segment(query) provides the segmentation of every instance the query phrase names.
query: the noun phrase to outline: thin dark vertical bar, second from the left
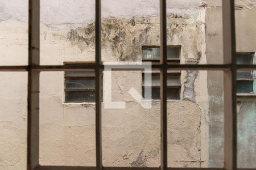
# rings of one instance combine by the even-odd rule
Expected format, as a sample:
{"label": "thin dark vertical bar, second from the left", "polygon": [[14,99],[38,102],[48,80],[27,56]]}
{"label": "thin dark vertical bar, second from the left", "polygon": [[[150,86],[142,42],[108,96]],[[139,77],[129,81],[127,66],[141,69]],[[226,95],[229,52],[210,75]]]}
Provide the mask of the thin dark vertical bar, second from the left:
{"label": "thin dark vertical bar, second from the left", "polygon": [[95,74],[96,74],[96,167],[102,169],[102,147],[101,147],[101,89],[102,89],[102,70],[101,65],[101,0],[96,0],[96,54],[95,54]]}

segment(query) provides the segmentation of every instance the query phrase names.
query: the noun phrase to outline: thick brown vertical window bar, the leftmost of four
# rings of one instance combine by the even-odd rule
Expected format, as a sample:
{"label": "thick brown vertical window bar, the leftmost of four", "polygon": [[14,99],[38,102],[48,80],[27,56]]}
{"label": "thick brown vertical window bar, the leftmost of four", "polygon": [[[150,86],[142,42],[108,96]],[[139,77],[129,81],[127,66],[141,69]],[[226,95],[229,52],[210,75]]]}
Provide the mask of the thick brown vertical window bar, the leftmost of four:
{"label": "thick brown vertical window bar, the leftmost of four", "polygon": [[27,169],[39,166],[39,71],[40,0],[28,1],[28,96],[27,96]]}

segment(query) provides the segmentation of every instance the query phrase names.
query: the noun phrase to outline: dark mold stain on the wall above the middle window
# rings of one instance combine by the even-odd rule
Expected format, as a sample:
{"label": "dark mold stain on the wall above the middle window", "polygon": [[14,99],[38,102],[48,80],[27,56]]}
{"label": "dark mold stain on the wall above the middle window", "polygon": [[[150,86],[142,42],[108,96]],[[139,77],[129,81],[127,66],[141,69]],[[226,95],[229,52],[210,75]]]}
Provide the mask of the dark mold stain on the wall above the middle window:
{"label": "dark mold stain on the wall above the middle window", "polygon": [[[202,35],[200,21],[187,15],[169,14],[167,17],[168,45],[183,46],[183,58],[200,60]],[[95,45],[94,22],[71,29],[67,41],[81,52]],[[160,45],[159,16],[104,18],[101,30],[102,58],[111,61],[141,61],[141,46]]]}

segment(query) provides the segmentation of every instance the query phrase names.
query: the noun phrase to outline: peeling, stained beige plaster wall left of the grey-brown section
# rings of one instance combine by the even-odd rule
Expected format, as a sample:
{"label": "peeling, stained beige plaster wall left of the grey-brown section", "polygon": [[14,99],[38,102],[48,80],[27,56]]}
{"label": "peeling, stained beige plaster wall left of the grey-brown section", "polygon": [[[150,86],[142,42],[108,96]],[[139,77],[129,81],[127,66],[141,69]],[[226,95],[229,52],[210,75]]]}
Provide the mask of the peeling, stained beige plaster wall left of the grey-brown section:
{"label": "peeling, stained beige plaster wall left of the grey-brown section", "polygon": [[[25,65],[27,8],[24,4],[27,2],[12,0],[0,3],[0,45],[3,47],[0,62],[4,65]],[[205,52],[205,3],[212,2],[167,3],[167,44],[182,46],[181,63],[216,62],[207,61]],[[15,8],[16,4],[21,5],[19,9]],[[58,0],[41,1],[41,5],[41,64],[94,61],[94,3],[89,0],[74,3]],[[158,11],[158,1],[134,1],[133,4],[102,1],[102,59],[141,61],[142,45],[160,44]],[[168,102],[168,151],[172,153],[168,164],[173,167],[208,166],[209,73],[190,73],[181,72],[181,100]],[[61,72],[41,73],[40,78],[40,164],[95,165],[94,104],[63,104],[64,74]],[[7,79],[17,82],[11,74],[7,75]],[[19,79],[24,81],[8,87],[21,90],[16,86],[26,84],[26,75],[19,76]],[[193,84],[193,89],[189,91],[191,97],[186,95],[186,90],[189,90],[186,83]],[[1,87],[6,88],[4,83]],[[113,100],[127,103],[126,109],[102,110],[104,165],[157,167],[160,164],[160,103],[154,101],[152,109],[142,109],[127,93],[131,87],[141,92],[141,72],[113,73]],[[13,98],[18,103],[23,101],[20,106],[24,107],[26,94],[20,96],[24,100]],[[2,108],[1,116],[6,117],[9,112]],[[12,107],[7,103],[5,108]],[[17,117],[26,115],[26,107],[23,110],[18,108],[13,113],[15,115],[6,118],[9,123],[1,122],[1,126],[8,125],[1,140],[4,145],[1,146],[15,150],[3,152],[0,164],[5,169],[25,169],[26,116]],[[14,130],[10,126],[15,127]],[[16,135],[7,142],[12,133]],[[14,163],[13,160],[19,161]]]}

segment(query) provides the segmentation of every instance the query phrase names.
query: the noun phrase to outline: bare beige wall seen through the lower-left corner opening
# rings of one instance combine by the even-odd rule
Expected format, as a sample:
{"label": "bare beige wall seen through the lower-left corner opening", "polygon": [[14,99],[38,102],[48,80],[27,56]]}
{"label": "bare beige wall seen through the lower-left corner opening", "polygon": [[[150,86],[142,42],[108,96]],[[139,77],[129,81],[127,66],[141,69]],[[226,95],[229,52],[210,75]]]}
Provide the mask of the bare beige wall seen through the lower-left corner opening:
{"label": "bare beige wall seen through the lower-left corner opening", "polygon": [[26,169],[27,74],[0,76],[0,169]]}

